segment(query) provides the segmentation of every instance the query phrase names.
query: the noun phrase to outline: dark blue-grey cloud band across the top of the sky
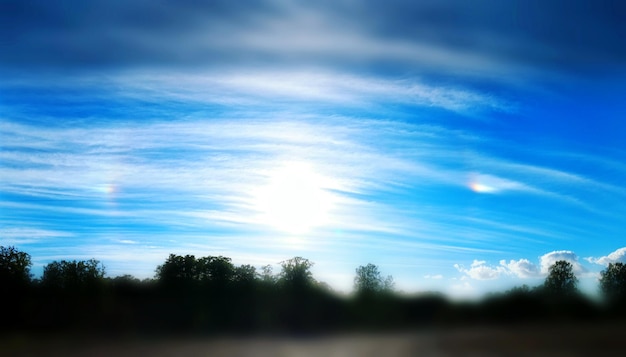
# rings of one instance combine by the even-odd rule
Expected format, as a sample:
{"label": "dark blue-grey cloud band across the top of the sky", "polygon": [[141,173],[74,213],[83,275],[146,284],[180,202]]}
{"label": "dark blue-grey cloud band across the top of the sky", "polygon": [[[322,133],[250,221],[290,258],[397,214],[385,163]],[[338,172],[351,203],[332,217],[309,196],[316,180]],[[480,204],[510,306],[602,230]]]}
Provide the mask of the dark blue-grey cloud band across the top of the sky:
{"label": "dark blue-grey cloud band across the top of the sky", "polygon": [[622,70],[608,1],[4,1],[5,68],[269,63],[498,74]]}

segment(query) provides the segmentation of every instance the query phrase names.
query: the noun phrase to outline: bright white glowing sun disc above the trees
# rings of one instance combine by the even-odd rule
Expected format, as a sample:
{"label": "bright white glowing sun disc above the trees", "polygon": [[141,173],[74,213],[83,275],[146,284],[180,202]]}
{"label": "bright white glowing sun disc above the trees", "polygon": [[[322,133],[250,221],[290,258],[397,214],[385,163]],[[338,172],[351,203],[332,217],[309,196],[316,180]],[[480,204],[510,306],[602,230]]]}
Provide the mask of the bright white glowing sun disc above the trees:
{"label": "bright white glowing sun disc above the trees", "polygon": [[256,195],[262,222],[287,233],[302,234],[328,222],[331,194],[326,180],[310,165],[292,163],[272,171]]}

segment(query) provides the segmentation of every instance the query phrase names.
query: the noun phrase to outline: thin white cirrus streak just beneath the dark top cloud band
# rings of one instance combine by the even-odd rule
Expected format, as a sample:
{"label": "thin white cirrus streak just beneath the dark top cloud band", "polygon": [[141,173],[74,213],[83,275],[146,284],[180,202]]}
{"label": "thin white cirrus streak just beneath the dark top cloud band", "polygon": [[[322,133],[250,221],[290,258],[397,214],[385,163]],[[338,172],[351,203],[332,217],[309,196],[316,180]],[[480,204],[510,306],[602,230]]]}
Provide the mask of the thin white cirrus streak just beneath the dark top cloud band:
{"label": "thin white cirrus streak just beneath the dark top cloud band", "polygon": [[[28,92],[42,81],[49,83],[53,95],[72,92],[64,101],[77,107],[96,105],[83,98],[98,97],[124,106],[125,100],[149,100],[163,108],[156,115],[165,115],[172,108],[196,107],[202,112],[207,105],[228,106],[235,117],[262,115],[262,109],[273,112],[310,112],[323,107],[352,108],[361,112],[385,110],[389,104],[439,108],[467,116],[480,112],[514,112],[515,104],[495,93],[479,91],[471,86],[437,83],[419,75],[380,76],[367,71],[339,71],[320,66],[256,66],[234,69],[183,68],[170,71],[113,71],[108,75],[76,74],[58,78],[55,75],[8,79],[12,91]],[[97,91],[94,89],[97,88]],[[80,90],[78,90],[80,89]],[[159,106],[146,108],[150,111]],[[129,111],[136,108],[128,107]],[[234,108],[234,110],[233,110]],[[100,108],[101,110],[104,108]],[[115,108],[108,108],[111,110]],[[336,110],[336,109],[335,109]],[[193,113],[193,112],[192,112]],[[127,115],[127,113],[120,113]],[[128,118],[132,119],[132,118]],[[257,118],[261,119],[261,118]]]}

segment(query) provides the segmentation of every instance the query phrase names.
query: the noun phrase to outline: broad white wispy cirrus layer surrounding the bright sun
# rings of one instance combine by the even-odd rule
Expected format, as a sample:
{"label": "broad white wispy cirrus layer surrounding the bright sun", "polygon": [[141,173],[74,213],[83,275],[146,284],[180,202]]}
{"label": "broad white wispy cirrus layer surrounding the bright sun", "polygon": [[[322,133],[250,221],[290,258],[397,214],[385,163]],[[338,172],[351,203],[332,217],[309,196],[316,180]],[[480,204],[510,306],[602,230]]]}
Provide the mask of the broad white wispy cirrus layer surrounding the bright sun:
{"label": "broad white wispy cirrus layer surrounding the bright sun", "polygon": [[[559,183],[590,182],[566,171],[505,160],[488,151],[474,156],[473,150],[459,156],[454,146],[448,146],[450,136],[476,148],[481,147],[482,138],[434,124],[345,115],[257,114],[261,117],[246,115],[232,120],[226,113],[226,118],[210,120],[131,122],[123,126],[95,122],[45,129],[4,121],[0,128],[7,140],[3,140],[0,152],[0,174],[5,179],[0,187],[13,195],[47,200],[5,200],[4,207],[17,208],[17,213],[5,220],[17,222],[23,218],[19,214],[31,212],[56,212],[104,219],[111,227],[94,229],[108,231],[123,231],[133,222],[151,230],[182,229],[177,233],[181,236],[226,227],[252,234],[252,238],[240,236],[227,243],[234,247],[257,239],[259,232],[268,229],[259,220],[253,202],[255,189],[268,182],[273,170],[296,161],[306,162],[323,177],[323,189],[334,197],[331,225],[343,233],[327,240],[327,247],[356,251],[369,247],[393,254],[419,249],[422,254],[430,251],[459,261],[472,251],[506,254],[518,244],[510,242],[521,245],[530,239],[545,244],[574,232],[569,231],[569,225],[556,225],[558,222],[553,222],[553,227],[543,223],[534,226],[538,218],[530,216],[525,223],[503,224],[498,218],[503,212],[488,206],[476,211],[484,212],[482,216],[454,217],[437,213],[455,209],[445,202],[437,203],[437,199],[430,198],[425,209],[414,198],[391,205],[377,194],[406,197],[417,190],[440,192],[445,197],[448,192],[458,192],[468,195],[469,200],[475,197],[468,183],[468,178],[473,178],[499,194],[493,199],[556,200],[569,205],[559,196],[562,189],[553,191],[546,176]],[[467,160],[472,163],[469,170]],[[606,188],[599,184],[596,189]],[[578,193],[573,190],[571,194],[576,197]],[[79,204],[68,207],[66,200]],[[17,216],[12,217],[14,214]],[[126,234],[132,233],[132,228],[128,229]],[[316,234],[322,231],[312,233],[311,239]],[[333,237],[331,232],[323,234]],[[370,234],[390,237],[395,248],[385,240],[363,238]],[[146,240],[140,236],[119,239],[139,244]],[[401,243],[408,240],[414,242]],[[494,242],[507,242],[507,247],[494,248]],[[163,243],[155,243],[159,244]],[[288,250],[284,254],[289,254]],[[530,276],[534,271],[529,264],[511,264],[490,266],[483,262],[457,269],[477,278]]]}

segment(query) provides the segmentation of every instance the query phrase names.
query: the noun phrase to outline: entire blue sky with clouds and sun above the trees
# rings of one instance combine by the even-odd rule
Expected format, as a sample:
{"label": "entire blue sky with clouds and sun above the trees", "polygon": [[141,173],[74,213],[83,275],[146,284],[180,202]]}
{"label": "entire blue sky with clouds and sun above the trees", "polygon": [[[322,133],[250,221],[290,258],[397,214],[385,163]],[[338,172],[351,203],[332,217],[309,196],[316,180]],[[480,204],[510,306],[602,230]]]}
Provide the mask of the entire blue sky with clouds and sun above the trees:
{"label": "entire blue sky with clouds and sun above the trees", "polygon": [[626,262],[617,1],[0,3],[0,245],[154,276],[294,256],[349,292]]}

